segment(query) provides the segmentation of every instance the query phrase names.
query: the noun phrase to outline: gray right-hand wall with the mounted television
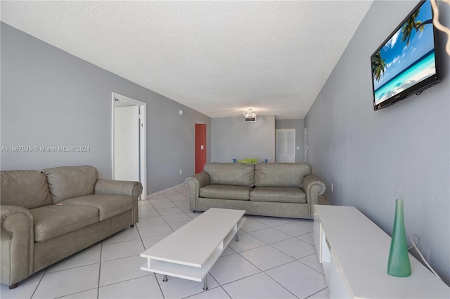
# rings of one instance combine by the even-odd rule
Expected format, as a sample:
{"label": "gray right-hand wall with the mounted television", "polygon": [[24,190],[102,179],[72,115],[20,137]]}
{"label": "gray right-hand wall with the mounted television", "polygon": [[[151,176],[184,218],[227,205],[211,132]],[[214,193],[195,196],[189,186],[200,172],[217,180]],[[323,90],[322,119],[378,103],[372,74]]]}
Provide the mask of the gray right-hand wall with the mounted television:
{"label": "gray right-hand wall with the mounted television", "polygon": [[[432,267],[449,284],[447,36],[439,35],[441,84],[378,112],[372,104],[371,54],[417,3],[373,2],[307,114],[308,161],[325,180],[330,204],[356,206],[388,234],[394,200],[402,197],[406,234],[420,235],[420,248],[430,248]],[[439,7],[441,22],[449,27],[449,6],[440,2]]]}

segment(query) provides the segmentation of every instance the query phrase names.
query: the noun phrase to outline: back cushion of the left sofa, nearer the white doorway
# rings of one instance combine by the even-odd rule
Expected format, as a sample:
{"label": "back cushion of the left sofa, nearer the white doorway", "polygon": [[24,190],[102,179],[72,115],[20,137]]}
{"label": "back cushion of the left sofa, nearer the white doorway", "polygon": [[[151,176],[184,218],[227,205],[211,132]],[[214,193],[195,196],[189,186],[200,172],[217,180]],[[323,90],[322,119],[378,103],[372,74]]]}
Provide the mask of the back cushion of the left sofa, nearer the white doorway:
{"label": "back cushion of the left sofa, nearer the white doorway", "polygon": [[98,178],[95,167],[63,166],[44,169],[42,172],[47,175],[53,204],[58,204],[64,199],[94,194],[94,185]]}

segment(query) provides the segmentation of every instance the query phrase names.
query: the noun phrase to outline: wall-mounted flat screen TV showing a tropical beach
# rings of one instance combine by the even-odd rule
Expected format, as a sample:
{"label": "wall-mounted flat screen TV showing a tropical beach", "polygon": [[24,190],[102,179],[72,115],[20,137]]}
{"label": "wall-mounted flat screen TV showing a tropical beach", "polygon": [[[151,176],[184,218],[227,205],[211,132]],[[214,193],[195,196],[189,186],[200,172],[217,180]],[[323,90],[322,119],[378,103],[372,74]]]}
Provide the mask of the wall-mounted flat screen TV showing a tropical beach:
{"label": "wall-mounted flat screen TV showing a tropical beach", "polygon": [[442,81],[432,15],[430,0],[420,1],[371,56],[375,111]]}

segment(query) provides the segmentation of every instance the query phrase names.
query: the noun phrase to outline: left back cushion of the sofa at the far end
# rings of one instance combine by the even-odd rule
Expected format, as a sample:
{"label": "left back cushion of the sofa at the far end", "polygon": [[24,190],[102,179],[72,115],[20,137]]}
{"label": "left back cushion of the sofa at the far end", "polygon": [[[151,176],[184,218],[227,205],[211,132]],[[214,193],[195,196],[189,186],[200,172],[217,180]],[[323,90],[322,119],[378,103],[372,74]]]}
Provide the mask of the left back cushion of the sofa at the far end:
{"label": "left back cushion of the sofa at the far end", "polygon": [[211,185],[253,187],[255,165],[243,163],[207,163],[203,171],[210,175]]}

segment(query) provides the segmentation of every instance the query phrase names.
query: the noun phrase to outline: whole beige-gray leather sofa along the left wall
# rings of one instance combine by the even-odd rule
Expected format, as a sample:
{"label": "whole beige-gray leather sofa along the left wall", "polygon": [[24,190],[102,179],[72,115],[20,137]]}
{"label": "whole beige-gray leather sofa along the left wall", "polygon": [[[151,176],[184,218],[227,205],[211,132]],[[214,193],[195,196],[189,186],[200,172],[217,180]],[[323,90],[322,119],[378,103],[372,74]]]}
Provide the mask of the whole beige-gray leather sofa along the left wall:
{"label": "whole beige-gray leather sofa along the left wall", "polygon": [[138,221],[140,182],[92,166],[1,171],[1,283],[9,288]]}

